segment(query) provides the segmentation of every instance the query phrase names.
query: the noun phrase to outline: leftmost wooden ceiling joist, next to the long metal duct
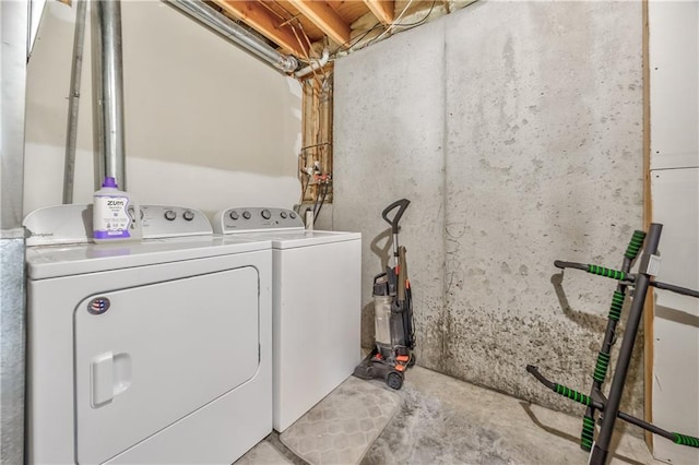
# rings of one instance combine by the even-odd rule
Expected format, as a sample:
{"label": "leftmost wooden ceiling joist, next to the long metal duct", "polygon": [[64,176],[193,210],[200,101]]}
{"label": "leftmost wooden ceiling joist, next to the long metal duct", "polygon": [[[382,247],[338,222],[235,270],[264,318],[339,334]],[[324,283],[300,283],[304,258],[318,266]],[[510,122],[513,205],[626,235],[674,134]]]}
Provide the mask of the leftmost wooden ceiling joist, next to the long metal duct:
{"label": "leftmost wooden ceiling joist, next to the long metal duct", "polygon": [[[282,25],[282,21],[272,14],[257,1],[249,0],[213,0],[223,11],[240,19],[250,27],[273,43],[284,51],[297,57],[308,56],[308,44],[296,38],[288,24]],[[300,35],[299,35],[300,37]]]}

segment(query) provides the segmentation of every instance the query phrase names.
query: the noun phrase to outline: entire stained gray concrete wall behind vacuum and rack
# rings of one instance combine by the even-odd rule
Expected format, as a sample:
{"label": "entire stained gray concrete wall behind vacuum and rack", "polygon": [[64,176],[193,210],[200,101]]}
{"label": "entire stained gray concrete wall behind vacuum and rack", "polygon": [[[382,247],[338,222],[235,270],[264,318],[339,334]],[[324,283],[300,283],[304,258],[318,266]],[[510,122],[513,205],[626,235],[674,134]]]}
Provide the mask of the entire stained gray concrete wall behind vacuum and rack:
{"label": "entire stained gray concrete wall behind vacuum and rack", "polygon": [[333,226],[368,306],[380,212],[413,201],[418,363],[580,410],[524,367],[590,388],[615,283],[553,262],[619,266],[642,226],[641,56],[640,2],[478,2],[336,62]]}

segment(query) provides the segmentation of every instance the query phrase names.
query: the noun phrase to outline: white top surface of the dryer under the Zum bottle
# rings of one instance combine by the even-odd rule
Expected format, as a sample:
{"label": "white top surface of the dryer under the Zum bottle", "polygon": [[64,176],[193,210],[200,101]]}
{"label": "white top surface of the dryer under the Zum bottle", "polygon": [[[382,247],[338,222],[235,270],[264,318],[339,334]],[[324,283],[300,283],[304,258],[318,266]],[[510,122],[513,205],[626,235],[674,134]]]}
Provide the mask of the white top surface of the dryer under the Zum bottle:
{"label": "white top surface of the dryer under the Zum bottle", "polygon": [[271,248],[269,239],[199,236],[143,242],[40,246],[26,249],[29,279],[196,260]]}

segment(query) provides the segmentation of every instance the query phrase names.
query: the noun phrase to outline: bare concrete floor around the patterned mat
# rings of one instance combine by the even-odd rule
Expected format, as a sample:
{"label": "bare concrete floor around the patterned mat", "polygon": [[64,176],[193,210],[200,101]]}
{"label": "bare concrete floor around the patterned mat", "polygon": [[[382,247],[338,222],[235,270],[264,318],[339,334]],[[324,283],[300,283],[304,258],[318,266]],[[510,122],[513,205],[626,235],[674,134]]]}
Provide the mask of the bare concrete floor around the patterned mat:
{"label": "bare concrete floor around the patterned mat", "polygon": [[[370,382],[386,388],[380,381]],[[408,371],[398,394],[403,405],[369,448],[362,465],[583,465],[588,461],[588,454],[579,448],[582,406],[581,416],[572,417],[420,367]],[[662,464],[652,458],[640,437],[619,432],[615,439],[611,464]],[[257,451],[254,461],[244,457],[241,462],[306,463],[281,443],[277,433],[260,445],[264,454]]]}

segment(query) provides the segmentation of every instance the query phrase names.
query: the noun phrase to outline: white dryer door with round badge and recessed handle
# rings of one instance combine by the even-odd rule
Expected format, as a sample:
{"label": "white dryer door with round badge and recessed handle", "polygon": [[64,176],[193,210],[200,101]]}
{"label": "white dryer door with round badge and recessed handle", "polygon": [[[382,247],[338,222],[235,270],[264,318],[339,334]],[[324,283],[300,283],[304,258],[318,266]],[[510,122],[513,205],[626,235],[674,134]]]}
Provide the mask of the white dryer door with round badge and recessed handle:
{"label": "white dryer door with round badge and recessed handle", "polygon": [[78,305],[79,463],[107,461],[254,375],[258,282],[246,266]]}

